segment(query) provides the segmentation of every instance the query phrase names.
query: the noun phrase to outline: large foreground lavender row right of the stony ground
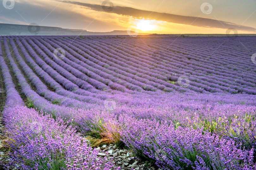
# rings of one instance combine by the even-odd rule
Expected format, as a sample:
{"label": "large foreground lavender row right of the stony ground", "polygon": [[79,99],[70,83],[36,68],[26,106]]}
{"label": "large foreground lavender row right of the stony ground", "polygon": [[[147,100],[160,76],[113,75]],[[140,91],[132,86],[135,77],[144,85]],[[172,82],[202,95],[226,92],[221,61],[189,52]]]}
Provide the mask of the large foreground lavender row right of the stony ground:
{"label": "large foreground lavender row right of the stony ground", "polygon": [[[251,169],[255,166],[255,149],[250,146],[255,138],[247,144],[244,142],[247,134],[243,133],[253,137],[255,133],[250,125],[255,122],[247,127],[232,122],[220,133],[217,130],[212,133],[197,123],[192,124],[195,127],[187,127],[179,122],[137,121],[130,117],[125,117],[124,122],[121,134],[125,144],[138,155],[154,159],[162,169]],[[217,122],[216,129],[224,127],[223,122],[226,120]]]}

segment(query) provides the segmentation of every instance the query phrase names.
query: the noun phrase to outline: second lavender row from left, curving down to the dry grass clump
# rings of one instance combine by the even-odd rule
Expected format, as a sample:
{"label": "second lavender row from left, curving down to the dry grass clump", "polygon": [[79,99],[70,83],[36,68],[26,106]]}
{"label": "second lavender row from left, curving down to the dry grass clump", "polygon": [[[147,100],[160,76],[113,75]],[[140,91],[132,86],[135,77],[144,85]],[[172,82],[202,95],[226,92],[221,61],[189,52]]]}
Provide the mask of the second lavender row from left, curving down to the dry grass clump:
{"label": "second lavender row from left, curving down to the dry grass clump", "polygon": [[54,118],[62,117],[63,119],[70,122],[71,124],[76,127],[82,133],[90,131],[92,128],[97,126],[97,120],[99,120],[100,112],[95,110],[86,111],[85,109],[91,109],[97,107],[98,109],[102,109],[102,105],[92,105],[88,104],[83,109],[76,109],[70,108],[65,106],[53,105],[48,100],[41,97],[35,91],[31,90],[30,86],[28,85],[25,77],[22,75],[21,71],[19,70],[18,66],[15,64],[14,59],[12,58],[8,46],[8,42],[4,41],[5,50],[7,53],[7,58],[10,61],[10,65],[15,73],[16,78],[21,86],[21,92],[26,95],[31,102],[33,102],[34,107],[38,108],[39,110],[43,110],[47,114],[51,114]]}

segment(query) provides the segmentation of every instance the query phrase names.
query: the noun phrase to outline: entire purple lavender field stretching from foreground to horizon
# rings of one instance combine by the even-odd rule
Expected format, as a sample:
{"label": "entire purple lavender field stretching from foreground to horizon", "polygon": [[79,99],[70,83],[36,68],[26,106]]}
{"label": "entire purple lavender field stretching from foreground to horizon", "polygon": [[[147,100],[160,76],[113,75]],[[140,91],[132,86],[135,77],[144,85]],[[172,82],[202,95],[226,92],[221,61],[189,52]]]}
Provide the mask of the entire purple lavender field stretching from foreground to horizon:
{"label": "entire purple lavender field stretching from foreground to horizon", "polygon": [[256,169],[255,36],[0,40],[4,169]]}

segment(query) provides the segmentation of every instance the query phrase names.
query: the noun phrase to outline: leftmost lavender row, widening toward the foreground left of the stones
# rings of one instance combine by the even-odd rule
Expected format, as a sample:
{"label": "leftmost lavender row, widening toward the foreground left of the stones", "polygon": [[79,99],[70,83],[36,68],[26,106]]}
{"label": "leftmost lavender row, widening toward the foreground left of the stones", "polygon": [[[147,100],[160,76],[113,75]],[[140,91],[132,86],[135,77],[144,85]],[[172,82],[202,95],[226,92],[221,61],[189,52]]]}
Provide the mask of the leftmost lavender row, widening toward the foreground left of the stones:
{"label": "leftmost lavender row, widening toward the foreground left of the stones", "polygon": [[107,170],[113,167],[113,162],[99,158],[98,151],[88,147],[75,129],[68,127],[62,119],[55,121],[49,115],[42,116],[42,112],[39,115],[36,110],[24,107],[2,55],[0,66],[6,88],[3,112],[8,137],[6,142],[12,149],[5,168],[9,169],[10,165],[19,169],[51,169],[57,166]]}

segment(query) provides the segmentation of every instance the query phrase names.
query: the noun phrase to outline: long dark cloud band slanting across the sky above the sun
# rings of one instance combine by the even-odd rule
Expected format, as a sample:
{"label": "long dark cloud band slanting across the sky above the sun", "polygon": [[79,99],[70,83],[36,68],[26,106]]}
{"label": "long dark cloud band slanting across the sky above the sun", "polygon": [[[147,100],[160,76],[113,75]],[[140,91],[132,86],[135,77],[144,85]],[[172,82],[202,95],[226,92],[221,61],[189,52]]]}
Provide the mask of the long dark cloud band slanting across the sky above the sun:
{"label": "long dark cloud band slanting across the sky above the sun", "polygon": [[[87,7],[89,9],[99,11],[99,12],[106,12],[101,7],[101,5],[97,5],[97,4],[71,2],[71,1],[63,1],[63,2],[80,5],[80,6]],[[146,10],[134,9],[134,8],[123,7],[123,6],[114,6],[111,11],[108,11],[108,13],[133,16],[136,18],[145,18],[145,19],[149,18],[150,20],[162,20],[170,23],[193,25],[193,26],[199,26],[199,27],[221,28],[221,29],[234,28],[236,30],[241,30],[241,31],[256,32],[256,29],[253,27],[238,25],[238,24],[226,22],[226,21],[220,21],[220,20],[215,20],[210,18],[194,17],[194,16],[183,16],[183,15],[159,13],[154,11],[146,11]]]}

